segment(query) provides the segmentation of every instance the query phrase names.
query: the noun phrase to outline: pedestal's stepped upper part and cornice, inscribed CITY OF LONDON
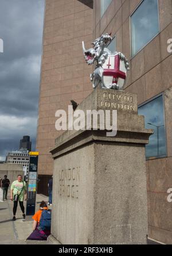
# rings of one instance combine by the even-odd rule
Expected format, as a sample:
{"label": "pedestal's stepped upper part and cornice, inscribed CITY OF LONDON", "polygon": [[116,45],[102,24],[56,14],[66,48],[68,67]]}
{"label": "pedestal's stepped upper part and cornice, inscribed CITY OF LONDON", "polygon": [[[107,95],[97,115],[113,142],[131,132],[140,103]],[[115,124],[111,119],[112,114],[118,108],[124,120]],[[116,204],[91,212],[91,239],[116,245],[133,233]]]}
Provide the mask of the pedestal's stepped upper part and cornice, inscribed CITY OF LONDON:
{"label": "pedestal's stepped upper part and cornice, inscribed CITY OF LONDON", "polygon": [[[107,97],[107,99],[105,98],[104,100],[103,97]],[[126,101],[126,99],[130,99],[132,102],[130,103]],[[101,102],[103,102],[103,104],[101,104]],[[107,106],[105,102],[109,102],[110,107],[105,108],[105,106]],[[121,107],[125,105],[129,106],[129,109],[128,107]],[[84,113],[86,113],[87,110],[117,110],[117,135],[115,137],[107,137],[105,136],[106,131],[94,131],[93,129],[86,131],[85,121],[85,131],[65,131],[61,136],[57,137],[56,147],[51,151],[52,154],[55,154],[54,157],[59,156],[81,146],[83,143],[93,141],[95,137],[96,140],[107,140],[111,142],[148,143],[148,137],[153,130],[144,129],[144,117],[138,116],[137,108],[136,94],[107,89],[94,90],[81,102],[76,110],[83,110]],[[98,119],[98,128],[99,127],[100,120]]]}

